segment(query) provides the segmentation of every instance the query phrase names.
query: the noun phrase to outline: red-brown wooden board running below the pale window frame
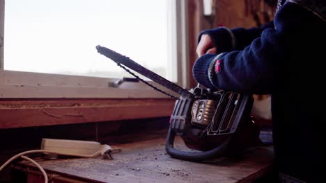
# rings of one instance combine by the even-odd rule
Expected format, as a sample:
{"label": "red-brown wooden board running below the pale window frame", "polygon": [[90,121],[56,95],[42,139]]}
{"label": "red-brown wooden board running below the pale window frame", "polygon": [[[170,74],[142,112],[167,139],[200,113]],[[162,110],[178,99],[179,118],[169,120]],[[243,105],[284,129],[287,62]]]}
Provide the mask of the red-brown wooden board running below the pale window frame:
{"label": "red-brown wooden board running below the pale window frame", "polygon": [[174,103],[171,99],[0,101],[0,129],[170,116]]}

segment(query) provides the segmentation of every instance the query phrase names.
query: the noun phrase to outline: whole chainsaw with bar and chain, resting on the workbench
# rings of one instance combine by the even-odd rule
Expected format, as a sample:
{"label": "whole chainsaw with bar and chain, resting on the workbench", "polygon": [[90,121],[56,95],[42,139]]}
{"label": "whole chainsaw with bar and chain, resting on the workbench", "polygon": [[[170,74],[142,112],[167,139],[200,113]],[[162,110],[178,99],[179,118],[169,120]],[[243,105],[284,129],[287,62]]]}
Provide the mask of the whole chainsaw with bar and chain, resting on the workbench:
{"label": "whole chainsaw with bar and chain, resting on the workbench", "polygon": [[[251,116],[251,107],[254,103],[252,95],[210,89],[201,85],[184,89],[125,55],[104,46],[96,46],[96,49],[137,80],[176,99],[165,144],[166,153],[171,157],[190,162],[203,162],[241,153],[242,150],[257,143],[260,129]],[[164,92],[127,68],[180,96]],[[189,150],[180,150],[173,146],[176,136],[183,139]]]}

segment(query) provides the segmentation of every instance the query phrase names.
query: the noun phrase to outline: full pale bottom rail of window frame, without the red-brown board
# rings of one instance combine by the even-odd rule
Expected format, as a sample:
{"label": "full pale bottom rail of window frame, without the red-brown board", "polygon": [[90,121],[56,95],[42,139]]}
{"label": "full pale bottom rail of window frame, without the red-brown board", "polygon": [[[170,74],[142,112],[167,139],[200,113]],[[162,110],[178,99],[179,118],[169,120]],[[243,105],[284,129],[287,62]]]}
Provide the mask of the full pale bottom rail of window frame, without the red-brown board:
{"label": "full pale bottom rail of window frame, without the red-brown board", "polygon": [[[169,98],[143,82],[124,82],[118,87],[109,87],[109,83],[116,80],[0,70],[0,98]],[[149,82],[164,92],[177,95]]]}

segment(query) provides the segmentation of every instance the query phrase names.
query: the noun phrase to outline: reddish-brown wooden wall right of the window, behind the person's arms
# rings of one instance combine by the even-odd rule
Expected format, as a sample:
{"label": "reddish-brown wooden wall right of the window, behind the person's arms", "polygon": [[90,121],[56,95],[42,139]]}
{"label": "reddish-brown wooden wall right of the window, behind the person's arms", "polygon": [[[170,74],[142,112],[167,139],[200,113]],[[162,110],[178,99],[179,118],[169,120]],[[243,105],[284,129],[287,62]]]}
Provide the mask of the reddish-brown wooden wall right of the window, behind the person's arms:
{"label": "reddish-brown wooden wall right of the window, behind the person's arms", "polygon": [[213,0],[212,16],[203,15],[203,3],[189,0],[189,71],[190,87],[196,86],[192,77],[192,65],[196,55],[197,36],[201,30],[226,26],[228,28],[251,28],[272,20],[277,1],[274,0]]}

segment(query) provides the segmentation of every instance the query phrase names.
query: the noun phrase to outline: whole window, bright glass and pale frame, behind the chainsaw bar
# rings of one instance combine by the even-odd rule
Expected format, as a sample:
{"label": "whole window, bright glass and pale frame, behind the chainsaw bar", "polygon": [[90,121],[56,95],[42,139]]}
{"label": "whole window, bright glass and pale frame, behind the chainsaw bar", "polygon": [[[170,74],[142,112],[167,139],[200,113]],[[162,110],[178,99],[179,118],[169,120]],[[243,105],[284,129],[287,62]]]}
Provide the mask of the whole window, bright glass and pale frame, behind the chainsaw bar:
{"label": "whole window, bright glass and pale frame, behind the chainsaw bar", "polygon": [[109,87],[132,76],[97,53],[98,44],[187,87],[185,1],[3,2],[1,97],[165,97],[142,83]]}

